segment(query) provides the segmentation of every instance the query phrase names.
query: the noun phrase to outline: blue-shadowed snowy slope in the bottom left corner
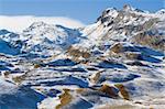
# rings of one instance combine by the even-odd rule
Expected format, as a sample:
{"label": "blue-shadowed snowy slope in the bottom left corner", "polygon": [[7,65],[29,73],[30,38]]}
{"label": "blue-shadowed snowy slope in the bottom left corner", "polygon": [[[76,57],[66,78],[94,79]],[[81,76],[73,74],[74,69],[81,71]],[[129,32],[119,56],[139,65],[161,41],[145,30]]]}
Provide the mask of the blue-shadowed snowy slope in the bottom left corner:
{"label": "blue-shadowed snowy slope in the bottom left corner", "polygon": [[18,87],[0,78],[0,108],[2,109],[35,109],[37,102],[45,97],[29,87]]}

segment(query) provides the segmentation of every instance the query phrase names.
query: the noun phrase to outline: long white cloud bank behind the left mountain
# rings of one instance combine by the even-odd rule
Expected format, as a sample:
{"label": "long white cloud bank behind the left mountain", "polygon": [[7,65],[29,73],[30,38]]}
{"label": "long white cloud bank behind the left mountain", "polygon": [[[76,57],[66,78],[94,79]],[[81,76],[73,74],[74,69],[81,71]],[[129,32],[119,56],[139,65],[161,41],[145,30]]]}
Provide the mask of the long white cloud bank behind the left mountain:
{"label": "long white cloud bank behind the left mountain", "polygon": [[21,32],[22,30],[30,26],[33,22],[38,21],[43,21],[48,24],[61,24],[67,28],[80,28],[85,25],[80,21],[64,17],[0,15],[0,29]]}

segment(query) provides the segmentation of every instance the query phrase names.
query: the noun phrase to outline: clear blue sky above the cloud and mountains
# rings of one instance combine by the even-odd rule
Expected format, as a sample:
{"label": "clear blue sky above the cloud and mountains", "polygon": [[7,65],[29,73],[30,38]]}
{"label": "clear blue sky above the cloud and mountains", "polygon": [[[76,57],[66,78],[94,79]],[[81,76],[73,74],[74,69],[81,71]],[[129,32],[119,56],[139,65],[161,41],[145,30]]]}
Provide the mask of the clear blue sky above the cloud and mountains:
{"label": "clear blue sky above the cloud and mountains", "polygon": [[165,0],[0,0],[0,15],[67,17],[86,24],[92,23],[109,7],[157,11]]}

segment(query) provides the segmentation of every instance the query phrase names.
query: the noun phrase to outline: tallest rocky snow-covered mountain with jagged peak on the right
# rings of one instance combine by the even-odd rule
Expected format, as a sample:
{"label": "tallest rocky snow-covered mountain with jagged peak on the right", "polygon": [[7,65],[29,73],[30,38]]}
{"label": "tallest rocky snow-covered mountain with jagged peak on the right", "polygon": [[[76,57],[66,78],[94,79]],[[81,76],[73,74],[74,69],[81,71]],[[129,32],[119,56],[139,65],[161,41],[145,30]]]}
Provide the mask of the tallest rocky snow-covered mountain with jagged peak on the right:
{"label": "tallest rocky snow-covered mountain with jagged peak on the right", "polygon": [[[97,22],[82,29],[89,43],[105,44],[130,42],[164,51],[165,14],[164,10],[148,13],[124,6],[122,10],[109,8],[102,12]],[[150,40],[150,41],[148,41]]]}

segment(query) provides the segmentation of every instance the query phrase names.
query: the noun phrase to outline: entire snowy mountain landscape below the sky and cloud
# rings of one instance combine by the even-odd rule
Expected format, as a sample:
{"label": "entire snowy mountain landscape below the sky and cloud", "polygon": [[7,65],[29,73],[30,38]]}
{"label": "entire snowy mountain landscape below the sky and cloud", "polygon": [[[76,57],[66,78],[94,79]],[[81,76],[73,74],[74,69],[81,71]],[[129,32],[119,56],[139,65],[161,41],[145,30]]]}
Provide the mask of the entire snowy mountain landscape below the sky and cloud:
{"label": "entire snowy mountain landscape below the sky and cloud", "polygon": [[164,51],[164,9],[108,8],[81,29],[1,30],[0,108],[161,109]]}

